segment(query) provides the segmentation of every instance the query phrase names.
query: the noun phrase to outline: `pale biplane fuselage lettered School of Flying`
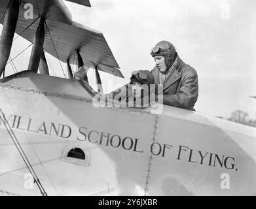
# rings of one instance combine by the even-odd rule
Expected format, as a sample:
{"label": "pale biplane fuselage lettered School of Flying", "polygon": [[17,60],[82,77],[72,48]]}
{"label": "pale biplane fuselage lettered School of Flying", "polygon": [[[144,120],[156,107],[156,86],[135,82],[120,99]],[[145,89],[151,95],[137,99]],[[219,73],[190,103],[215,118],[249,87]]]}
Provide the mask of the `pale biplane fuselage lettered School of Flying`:
{"label": "pale biplane fuselage lettered School of Flying", "polygon": [[[60,1],[41,2],[55,3],[50,12],[64,11]],[[77,42],[61,46],[45,35],[46,52],[68,64],[77,54],[97,71],[122,76],[101,33],[59,18],[46,19],[53,37],[63,24],[87,36],[77,33]],[[41,65],[43,50],[33,47],[40,56],[29,64]],[[157,114],[153,107],[96,107],[87,82],[36,72],[0,80],[0,195],[256,195],[255,128],[166,105]]]}

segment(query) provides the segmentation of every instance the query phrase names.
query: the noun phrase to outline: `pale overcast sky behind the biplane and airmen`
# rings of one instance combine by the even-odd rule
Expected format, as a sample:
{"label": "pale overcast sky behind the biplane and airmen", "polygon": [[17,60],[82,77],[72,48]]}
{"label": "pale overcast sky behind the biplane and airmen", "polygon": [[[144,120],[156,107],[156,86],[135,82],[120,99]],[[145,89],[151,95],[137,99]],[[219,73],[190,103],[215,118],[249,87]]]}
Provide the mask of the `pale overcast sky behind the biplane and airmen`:
{"label": "pale overcast sky behind the biplane and airmen", "polygon": [[[92,8],[65,4],[75,22],[103,33],[120,65],[125,79],[101,73],[103,84],[120,86],[129,81],[130,72],[153,69],[150,49],[168,40],[198,72],[197,111],[227,118],[241,109],[256,118],[256,99],[249,97],[256,96],[255,0],[90,2]],[[16,46],[24,48],[27,42]],[[12,50],[12,56],[17,52]]]}

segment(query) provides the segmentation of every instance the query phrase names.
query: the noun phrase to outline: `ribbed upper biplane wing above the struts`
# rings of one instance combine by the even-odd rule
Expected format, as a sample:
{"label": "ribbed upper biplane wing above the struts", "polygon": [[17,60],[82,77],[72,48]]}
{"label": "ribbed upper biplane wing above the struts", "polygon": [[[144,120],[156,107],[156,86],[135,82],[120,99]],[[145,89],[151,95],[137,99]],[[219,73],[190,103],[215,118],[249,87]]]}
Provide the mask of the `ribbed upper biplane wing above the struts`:
{"label": "ribbed upper biplane wing above the struts", "polygon": [[[8,0],[1,0],[0,15],[8,4]],[[82,5],[90,4],[89,1],[76,0],[74,3]],[[38,16],[45,16],[48,29],[45,29],[44,49],[54,57],[59,57],[62,61],[75,64],[75,50],[80,49],[80,54],[84,62],[93,61],[98,65],[99,70],[122,77],[119,65],[113,56],[107,41],[102,33],[89,27],[84,27],[71,20],[71,14],[60,0],[27,0],[26,3],[33,5],[34,19],[24,18],[25,3],[22,1],[16,33],[21,34],[24,39],[33,42],[33,37],[37,30],[39,20],[29,26]],[[24,31],[26,29],[26,31]],[[55,49],[56,51],[55,51]],[[56,54],[57,52],[57,54]]]}

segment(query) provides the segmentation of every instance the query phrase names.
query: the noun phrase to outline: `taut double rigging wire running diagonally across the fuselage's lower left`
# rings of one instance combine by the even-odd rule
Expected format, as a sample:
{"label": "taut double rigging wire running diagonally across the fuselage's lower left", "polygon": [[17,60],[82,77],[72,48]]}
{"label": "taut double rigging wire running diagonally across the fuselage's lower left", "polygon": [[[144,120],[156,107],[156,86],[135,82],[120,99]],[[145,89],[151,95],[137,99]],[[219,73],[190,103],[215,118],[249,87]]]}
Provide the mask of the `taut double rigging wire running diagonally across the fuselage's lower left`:
{"label": "taut double rigging wire running diagonally across the fuselage's lower left", "polygon": [[39,190],[41,191],[41,194],[43,196],[47,196],[47,193],[46,193],[43,185],[41,184],[37,174],[35,173],[35,170],[33,169],[32,165],[30,164],[29,159],[27,159],[26,153],[22,149],[22,146],[20,145],[20,142],[18,142],[18,139],[16,138],[16,135],[12,131],[12,128],[10,127],[7,119],[5,118],[5,114],[3,113],[3,111],[1,109],[0,109],[0,113],[1,113],[1,116],[3,116],[3,118],[0,117],[0,120],[3,121],[3,124],[5,125],[5,128],[7,129],[7,132],[9,133],[10,138],[12,139],[12,142],[14,142],[14,145],[16,146],[18,152],[20,153],[24,163],[26,164],[27,169],[29,170],[30,174],[33,176],[35,184],[37,184],[37,187],[39,187]]}

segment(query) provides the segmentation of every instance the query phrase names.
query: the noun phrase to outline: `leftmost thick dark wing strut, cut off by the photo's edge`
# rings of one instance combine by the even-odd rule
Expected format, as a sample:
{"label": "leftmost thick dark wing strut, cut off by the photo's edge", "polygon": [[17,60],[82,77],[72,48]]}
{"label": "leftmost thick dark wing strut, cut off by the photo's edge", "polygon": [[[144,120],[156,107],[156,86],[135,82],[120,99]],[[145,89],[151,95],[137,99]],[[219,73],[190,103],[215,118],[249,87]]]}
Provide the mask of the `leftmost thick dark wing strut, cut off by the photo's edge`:
{"label": "leftmost thick dark wing strut, cut off by the photo's edge", "polygon": [[0,76],[3,71],[5,71],[5,66],[10,56],[12,40],[18,21],[19,7],[19,0],[10,0],[6,9],[5,22],[3,24],[3,31],[0,41]]}

